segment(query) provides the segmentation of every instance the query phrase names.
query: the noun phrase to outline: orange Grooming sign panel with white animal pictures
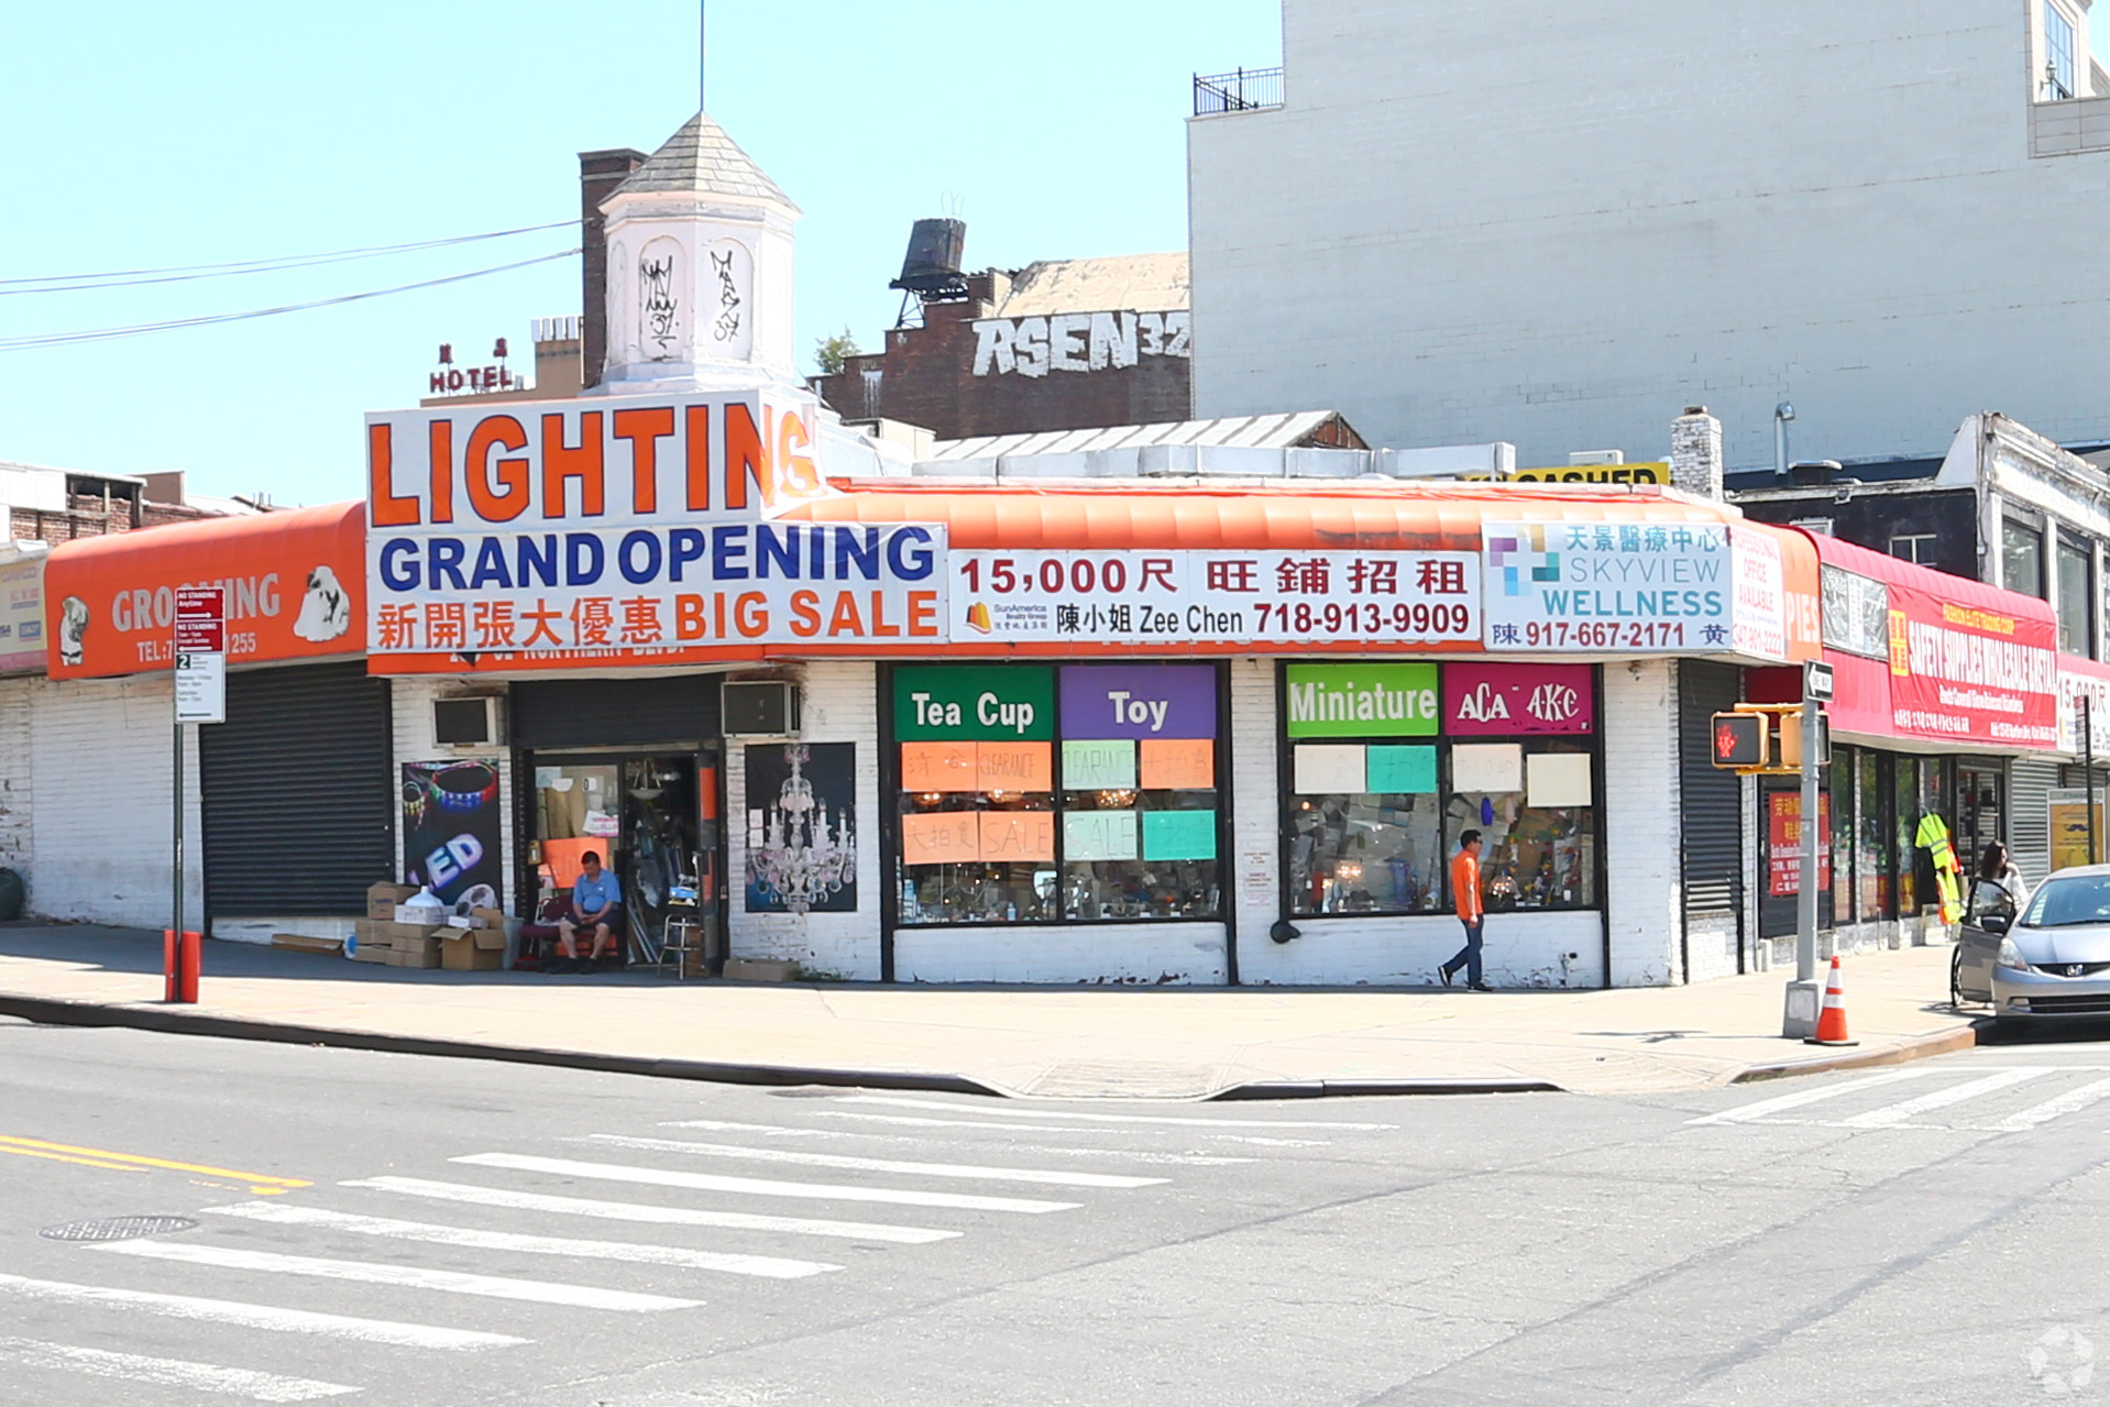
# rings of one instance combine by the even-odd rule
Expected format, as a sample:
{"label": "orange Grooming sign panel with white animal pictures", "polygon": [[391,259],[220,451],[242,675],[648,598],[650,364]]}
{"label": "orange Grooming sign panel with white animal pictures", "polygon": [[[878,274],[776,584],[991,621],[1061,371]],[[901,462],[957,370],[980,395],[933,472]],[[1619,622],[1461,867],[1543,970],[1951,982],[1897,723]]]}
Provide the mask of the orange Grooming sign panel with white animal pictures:
{"label": "orange Grooming sign panel with white animal pictures", "polygon": [[365,504],[205,519],[55,546],[44,572],[51,677],[171,669],[181,586],[226,591],[230,664],[365,654]]}

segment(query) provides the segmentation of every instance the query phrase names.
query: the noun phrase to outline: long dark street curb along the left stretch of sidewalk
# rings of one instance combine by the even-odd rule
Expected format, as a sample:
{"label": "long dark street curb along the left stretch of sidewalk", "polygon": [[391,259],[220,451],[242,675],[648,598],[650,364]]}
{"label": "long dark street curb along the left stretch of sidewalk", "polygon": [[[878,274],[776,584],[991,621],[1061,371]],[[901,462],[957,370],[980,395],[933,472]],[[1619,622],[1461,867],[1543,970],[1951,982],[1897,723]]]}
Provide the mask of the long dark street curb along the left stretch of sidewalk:
{"label": "long dark street curb along the left stretch of sidewalk", "polygon": [[833,1084],[844,1088],[903,1088],[943,1095],[1004,1093],[966,1076],[914,1074],[899,1069],[819,1069],[808,1065],[743,1065],[730,1061],[665,1061],[644,1055],[593,1055],[591,1051],[546,1051],[536,1046],[496,1046],[475,1040],[433,1040],[424,1036],[388,1036],[380,1032],[340,1032],[327,1025],[289,1025],[279,1021],[243,1021],[238,1017],[207,1017],[190,1010],[152,1006],[103,1006],[59,998],[0,994],[0,1017],[21,1017],[38,1025],[118,1025],[171,1036],[219,1036],[224,1040],[270,1040],[295,1046],[333,1046],[340,1051],[384,1051],[390,1055],[445,1055],[475,1061],[509,1061],[515,1065],[557,1065],[603,1074],[654,1076],[660,1080],[707,1080],[713,1084]]}

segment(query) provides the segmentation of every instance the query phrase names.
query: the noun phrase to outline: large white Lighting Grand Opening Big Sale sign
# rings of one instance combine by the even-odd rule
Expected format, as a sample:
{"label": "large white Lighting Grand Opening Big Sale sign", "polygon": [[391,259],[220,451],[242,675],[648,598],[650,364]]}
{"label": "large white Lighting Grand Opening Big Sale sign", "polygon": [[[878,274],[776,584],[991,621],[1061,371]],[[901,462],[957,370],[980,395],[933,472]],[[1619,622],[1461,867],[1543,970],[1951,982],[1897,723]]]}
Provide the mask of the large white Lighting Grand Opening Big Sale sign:
{"label": "large white Lighting Grand Opening Big Sale sign", "polygon": [[732,392],[369,416],[371,669],[941,641],[943,527],[776,519],[827,494],[814,409]]}

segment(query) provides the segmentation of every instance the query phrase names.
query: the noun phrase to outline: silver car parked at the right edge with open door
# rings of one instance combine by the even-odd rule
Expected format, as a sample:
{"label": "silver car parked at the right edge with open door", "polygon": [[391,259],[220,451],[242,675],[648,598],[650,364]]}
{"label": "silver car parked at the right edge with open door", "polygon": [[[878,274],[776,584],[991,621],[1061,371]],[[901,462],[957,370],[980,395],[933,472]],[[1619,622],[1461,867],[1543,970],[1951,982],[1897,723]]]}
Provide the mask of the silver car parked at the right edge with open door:
{"label": "silver car parked at the right edge with open door", "polygon": [[2110,865],[2061,869],[2021,901],[1977,882],[1952,968],[1954,994],[2000,1023],[2110,1017]]}

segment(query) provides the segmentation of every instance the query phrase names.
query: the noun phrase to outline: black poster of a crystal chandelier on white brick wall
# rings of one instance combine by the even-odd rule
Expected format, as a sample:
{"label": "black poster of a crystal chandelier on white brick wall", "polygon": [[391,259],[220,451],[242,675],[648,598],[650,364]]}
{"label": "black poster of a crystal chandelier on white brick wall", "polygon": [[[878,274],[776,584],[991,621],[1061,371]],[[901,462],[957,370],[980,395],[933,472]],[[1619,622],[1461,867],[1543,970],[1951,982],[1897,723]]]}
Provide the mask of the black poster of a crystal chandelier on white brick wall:
{"label": "black poster of a crystal chandelier on white brick wall", "polygon": [[857,911],[857,745],[747,749],[747,911]]}

